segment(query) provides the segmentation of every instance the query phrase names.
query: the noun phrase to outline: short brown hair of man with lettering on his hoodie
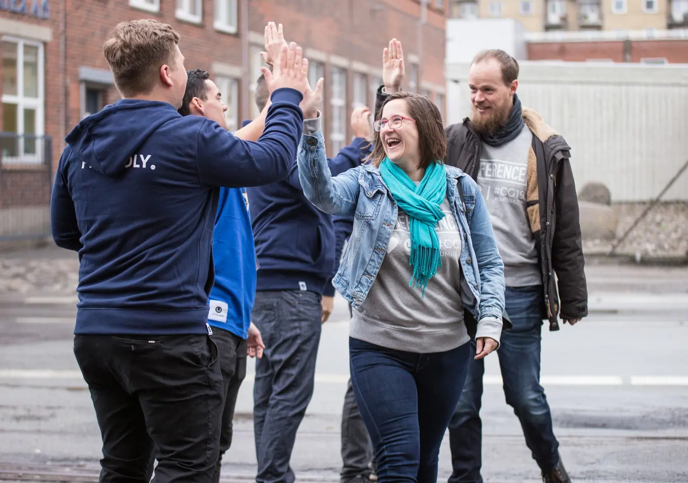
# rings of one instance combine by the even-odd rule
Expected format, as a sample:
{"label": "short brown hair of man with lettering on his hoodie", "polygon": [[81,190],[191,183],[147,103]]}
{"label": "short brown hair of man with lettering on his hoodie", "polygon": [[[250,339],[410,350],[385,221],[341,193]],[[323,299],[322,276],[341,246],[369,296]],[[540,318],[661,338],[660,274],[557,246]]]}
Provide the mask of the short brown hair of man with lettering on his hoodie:
{"label": "short brown hair of man with lettering on his hoodie", "polygon": [[179,34],[166,23],[153,19],[119,23],[103,53],[122,96],[151,92],[160,66],[172,63],[178,43]]}

